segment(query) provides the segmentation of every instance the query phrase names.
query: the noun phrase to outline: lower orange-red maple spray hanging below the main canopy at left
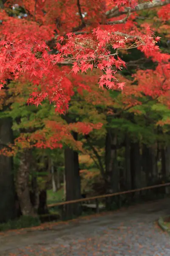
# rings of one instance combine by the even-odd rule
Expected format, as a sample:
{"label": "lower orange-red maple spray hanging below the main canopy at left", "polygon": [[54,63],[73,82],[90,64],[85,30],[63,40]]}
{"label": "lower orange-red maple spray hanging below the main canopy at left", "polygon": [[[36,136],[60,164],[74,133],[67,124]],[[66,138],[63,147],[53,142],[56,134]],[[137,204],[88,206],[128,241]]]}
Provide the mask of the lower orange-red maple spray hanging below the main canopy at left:
{"label": "lower orange-red maple spray hanging below the main canopy at left", "polygon": [[[30,123],[29,123],[30,125]],[[72,131],[78,134],[89,134],[94,129],[99,130],[102,123],[77,122],[64,124],[56,121],[45,121],[45,127],[33,133],[21,133],[14,140],[14,144],[8,144],[7,147],[0,150],[0,154],[13,156],[24,148],[62,148],[63,145],[69,145],[76,150],[83,151],[82,142],[74,140]]]}

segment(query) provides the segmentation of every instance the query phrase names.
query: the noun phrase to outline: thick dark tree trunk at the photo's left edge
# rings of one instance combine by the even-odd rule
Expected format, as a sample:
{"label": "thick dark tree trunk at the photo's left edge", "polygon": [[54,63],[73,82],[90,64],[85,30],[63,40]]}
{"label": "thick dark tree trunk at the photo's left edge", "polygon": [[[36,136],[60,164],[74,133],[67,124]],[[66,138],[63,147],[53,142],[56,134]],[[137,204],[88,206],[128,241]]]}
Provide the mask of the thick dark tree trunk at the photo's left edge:
{"label": "thick dark tree trunk at the photo's left edge", "polygon": [[[12,120],[0,119],[0,149],[13,142]],[[0,222],[16,217],[12,157],[0,155]]]}

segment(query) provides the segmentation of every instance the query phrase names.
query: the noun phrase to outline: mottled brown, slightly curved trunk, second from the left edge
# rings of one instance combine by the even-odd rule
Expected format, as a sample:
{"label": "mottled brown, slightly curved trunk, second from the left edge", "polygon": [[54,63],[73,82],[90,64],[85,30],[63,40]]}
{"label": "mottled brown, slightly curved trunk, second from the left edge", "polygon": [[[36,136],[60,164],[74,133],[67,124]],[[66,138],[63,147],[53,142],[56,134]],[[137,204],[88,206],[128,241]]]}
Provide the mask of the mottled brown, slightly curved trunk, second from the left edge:
{"label": "mottled brown, slightly curved trunk, second from the left edge", "polygon": [[17,195],[20,202],[20,208],[23,215],[36,216],[34,207],[31,204],[29,190],[30,174],[30,151],[26,149],[21,153],[20,166],[17,171],[16,187]]}

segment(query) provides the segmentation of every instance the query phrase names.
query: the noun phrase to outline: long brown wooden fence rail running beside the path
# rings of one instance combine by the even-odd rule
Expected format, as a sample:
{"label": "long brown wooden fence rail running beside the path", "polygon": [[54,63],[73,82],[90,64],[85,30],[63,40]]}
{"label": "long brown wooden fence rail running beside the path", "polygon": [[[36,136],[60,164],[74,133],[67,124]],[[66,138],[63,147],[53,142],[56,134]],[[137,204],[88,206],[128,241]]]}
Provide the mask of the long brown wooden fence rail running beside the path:
{"label": "long brown wooden fence rail running beside the path", "polygon": [[48,204],[48,208],[56,207],[59,205],[65,205],[65,204],[74,204],[74,203],[79,203],[79,202],[84,202],[84,201],[91,201],[91,200],[96,200],[96,204],[98,204],[98,199],[100,199],[100,198],[108,198],[108,197],[112,197],[112,196],[116,196],[116,195],[125,195],[125,194],[129,194],[129,193],[133,193],[133,192],[140,192],[143,190],[154,189],[154,188],[159,188],[159,187],[164,187],[164,186],[170,186],[170,182],[159,184],[159,185],[154,185],[154,186],[147,186],[147,187],[144,187],[141,189],[132,189],[132,190],[117,192],[117,193],[113,193],[113,194],[98,195],[98,196],[93,196],[93,197],[89,197],[89,198],[81,198],[81,199],[77,199],[77,200],[64,201],[64,202],[60,202],[60,203],[56,203],[56,204]]}

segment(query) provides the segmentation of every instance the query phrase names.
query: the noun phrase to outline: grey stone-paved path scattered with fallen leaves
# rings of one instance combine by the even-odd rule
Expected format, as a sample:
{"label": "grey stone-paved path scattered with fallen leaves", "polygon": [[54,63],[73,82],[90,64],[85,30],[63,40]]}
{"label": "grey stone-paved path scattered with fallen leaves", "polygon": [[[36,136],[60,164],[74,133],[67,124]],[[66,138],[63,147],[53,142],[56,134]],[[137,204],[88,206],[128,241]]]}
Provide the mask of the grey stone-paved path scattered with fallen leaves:
{"label": "grey stone-paved path scattered with fallen leaves", "polygon": [[156,224],[167,214],[170,199],[41,230],[0,233],[0,256],[170,256],[170,236]]}

